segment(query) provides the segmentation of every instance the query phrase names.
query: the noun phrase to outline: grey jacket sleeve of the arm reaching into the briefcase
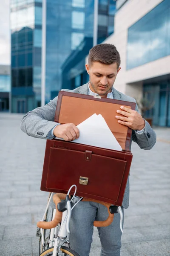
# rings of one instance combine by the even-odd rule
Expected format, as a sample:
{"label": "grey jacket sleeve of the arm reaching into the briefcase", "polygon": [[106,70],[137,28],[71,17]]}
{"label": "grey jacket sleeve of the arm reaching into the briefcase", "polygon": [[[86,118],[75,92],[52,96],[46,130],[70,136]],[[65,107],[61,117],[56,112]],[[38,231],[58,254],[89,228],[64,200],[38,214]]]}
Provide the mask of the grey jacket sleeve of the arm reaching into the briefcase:
{"label": "grey jacket sleeve of the arm reaching into the briefcase", "polygon": [[58,96],[43,107],[35,108],[23,116],[20,128],[31,137],[52,139],[51,130],[57,125],[54,116]]}

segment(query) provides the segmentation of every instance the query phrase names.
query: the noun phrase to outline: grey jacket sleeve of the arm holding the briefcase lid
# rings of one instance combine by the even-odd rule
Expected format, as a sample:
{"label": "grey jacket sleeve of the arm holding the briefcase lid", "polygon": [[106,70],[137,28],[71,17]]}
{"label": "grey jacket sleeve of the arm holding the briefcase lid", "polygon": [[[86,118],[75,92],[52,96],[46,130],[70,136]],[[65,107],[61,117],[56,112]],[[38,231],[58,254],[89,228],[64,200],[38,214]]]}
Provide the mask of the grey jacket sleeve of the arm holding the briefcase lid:
{"label": "grey jacket sleeve of the arm holding the briefcase lid", "polygon": [[[136,101],[135,101],[136,102]],[[138,106],[136,104],[137,112],[139,112]],[[140,113],[140,112],[139,112]],[[136,142],[140,148],[149,150],[153,148],[156,143],[156,133],[151,128],[150,124],[144,119],[145,121],[145,128],[142,134],[138,134],[137,131],[132,131],[132,140]]]}

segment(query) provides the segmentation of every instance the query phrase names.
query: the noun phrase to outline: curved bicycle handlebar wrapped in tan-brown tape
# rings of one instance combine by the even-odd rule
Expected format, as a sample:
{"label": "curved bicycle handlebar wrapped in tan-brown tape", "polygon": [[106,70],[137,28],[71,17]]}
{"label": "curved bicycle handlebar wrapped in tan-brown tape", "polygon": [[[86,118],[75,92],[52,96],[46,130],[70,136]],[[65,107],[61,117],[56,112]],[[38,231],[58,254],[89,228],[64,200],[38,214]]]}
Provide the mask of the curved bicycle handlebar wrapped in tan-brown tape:
{"label": "curved bicycle handlebar wrapped in tan-brown tape", "polygon": [[[56,205],[56,214],[55,214],[54,219],[52,221],[49,221],[49,222],[39,221],[39,222],[37,222],[37,227],[43,228],[43,229],[51,229],[53,227],[56,227],[59,224],[59,222],[61,222],[62,212],[59,212],[59,210],[57,209],[57,204],[60,203],[61,200],[64,200],[65,197],[66,197],[66,194],[61,194],[61,193],[57,193],[53,196],[53,201]],[[69,198],[70,198],[70,196],[69,196]],[[102,202],[102,201],[98,201],[98,200],[93,200],[93,199],[90,199],[90,198],[83,198],[82,201],[92,201],[92,202],[95,202],[95,203],[103,204],[103,205],[105,205],[105,207],[108,208],[108,214],[109,215],[108,215],[107,220],[105,220],[105,221],[94,221],[94,226],[95,227],[107,227],[112,223],[113,218],[114,218],[114,214],[109,211],[109,207],[111,206],[111,204],[108,204],[108,203],[105,203],[105,202]]]}

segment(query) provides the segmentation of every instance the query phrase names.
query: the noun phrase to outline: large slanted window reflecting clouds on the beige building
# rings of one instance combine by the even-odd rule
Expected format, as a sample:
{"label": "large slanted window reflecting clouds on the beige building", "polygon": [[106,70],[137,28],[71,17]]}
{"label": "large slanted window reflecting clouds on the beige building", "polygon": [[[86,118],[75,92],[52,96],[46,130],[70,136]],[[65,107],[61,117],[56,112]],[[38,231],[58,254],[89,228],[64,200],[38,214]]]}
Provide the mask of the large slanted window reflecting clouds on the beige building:
{"label": "large slanted window reflecting clouds on the beige building", "polygon": [[164,0],[128,29],[127,70],[170,54],[170,1]]}

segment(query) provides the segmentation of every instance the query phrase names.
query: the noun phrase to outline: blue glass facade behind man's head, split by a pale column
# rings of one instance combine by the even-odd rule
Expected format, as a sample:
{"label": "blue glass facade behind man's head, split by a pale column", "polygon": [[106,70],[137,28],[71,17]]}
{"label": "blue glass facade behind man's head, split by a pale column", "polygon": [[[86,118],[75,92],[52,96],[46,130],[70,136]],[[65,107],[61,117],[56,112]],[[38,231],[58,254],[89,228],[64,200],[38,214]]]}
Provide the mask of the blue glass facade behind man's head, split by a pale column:
{"label": "blue glass facade behind man's head, split by a pale column", "polygon": [[[99,0],[98,43],[113,32],[110,4],[115,7],[114,1]],[[93,23],[94,0],[47,1],[45,102],[62,88],[87,82],[85,57],[93,47]]]}

